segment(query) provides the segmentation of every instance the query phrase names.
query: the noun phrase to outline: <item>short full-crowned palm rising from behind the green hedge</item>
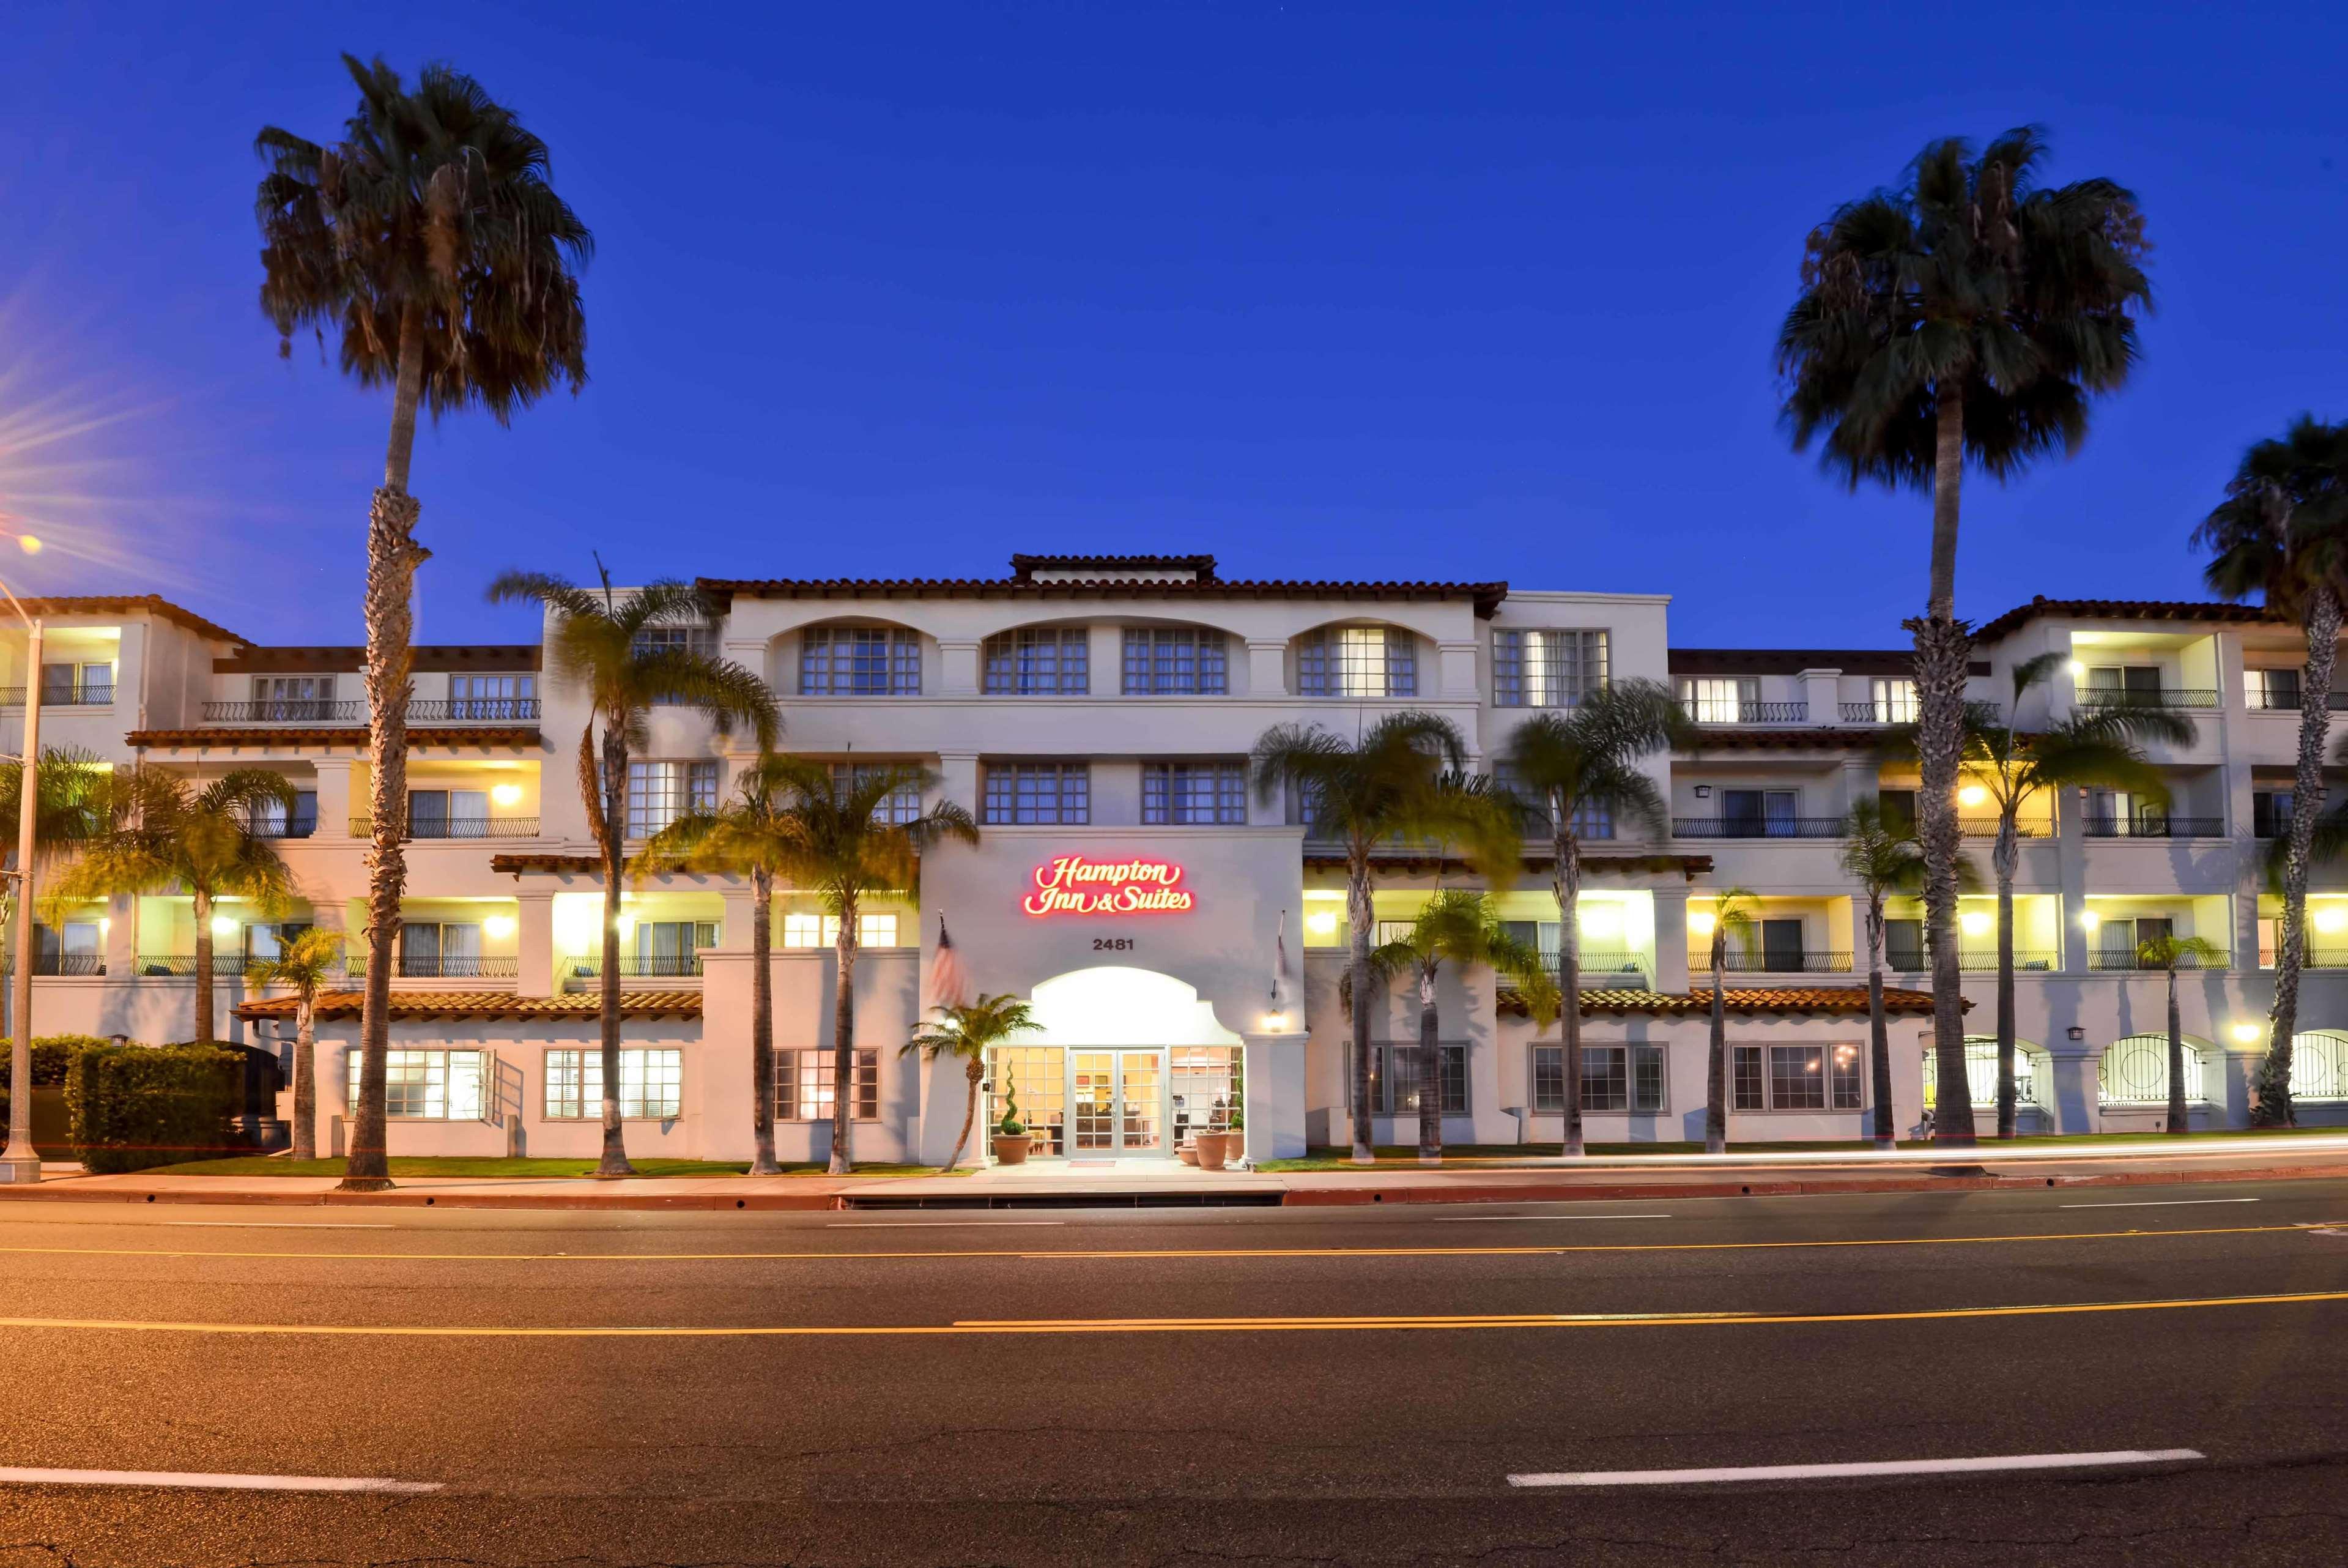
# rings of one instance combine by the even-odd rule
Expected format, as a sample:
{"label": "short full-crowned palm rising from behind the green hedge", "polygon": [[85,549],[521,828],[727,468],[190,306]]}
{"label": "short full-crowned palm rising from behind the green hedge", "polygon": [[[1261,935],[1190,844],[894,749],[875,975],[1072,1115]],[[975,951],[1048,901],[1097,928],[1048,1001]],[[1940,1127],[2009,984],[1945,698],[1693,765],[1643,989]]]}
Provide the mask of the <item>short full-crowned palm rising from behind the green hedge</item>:
{"label": "short full-crowned palm rising from behind the green hedge", "polygon": [[247,899],[263,915],[294,901],[294,878],[277,845],[254,833],[263,807],[294,810],[294,786],[275,772],[237,768],[197,789],[162,768],[117,772],[106,789],[106,824],[80,845],[47,899],[80,904],[115,894],[185,887],[195,904],[195,1042],[211,1045],[211,906]]}

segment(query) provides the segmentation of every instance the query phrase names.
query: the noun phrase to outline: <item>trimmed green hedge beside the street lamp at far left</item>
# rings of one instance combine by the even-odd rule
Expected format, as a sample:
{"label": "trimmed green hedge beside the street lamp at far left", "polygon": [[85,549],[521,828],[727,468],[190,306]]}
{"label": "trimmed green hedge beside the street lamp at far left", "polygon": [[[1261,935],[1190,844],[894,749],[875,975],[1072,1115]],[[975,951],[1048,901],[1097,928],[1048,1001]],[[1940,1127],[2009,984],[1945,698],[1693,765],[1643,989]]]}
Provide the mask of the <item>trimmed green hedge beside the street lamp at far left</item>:
{"label": "trimmed green hedge beside the street lamp at far left", "polygon": [[244,1052],[99,1042],[73,1054],[66,1115],[89,1171],[143,1171],[228,1153]]}

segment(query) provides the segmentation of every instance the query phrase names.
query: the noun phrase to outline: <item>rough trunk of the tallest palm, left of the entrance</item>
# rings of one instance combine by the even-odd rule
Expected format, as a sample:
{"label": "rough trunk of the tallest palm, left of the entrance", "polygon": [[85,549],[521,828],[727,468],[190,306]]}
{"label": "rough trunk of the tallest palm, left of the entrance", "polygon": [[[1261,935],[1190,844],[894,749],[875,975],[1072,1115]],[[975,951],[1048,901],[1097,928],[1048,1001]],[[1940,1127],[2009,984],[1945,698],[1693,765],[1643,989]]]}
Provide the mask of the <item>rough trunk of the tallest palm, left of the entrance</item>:
{"label": "rough trunk of the tallest palm, left of the entrance", "polygon": [[425,387],[423,305],[399,317],[399,373],[392,378],[392,437],[383,453],[383,488],[366,509],[366,756],[373,824],[366,850],[366,930],[373,944],[359,1000],[359,1103],[350,1117],[350,1164],[343,1188],[378,1192],[390,1183],[383,1124],[383,1063],[392,1047],[392,944],[409,864],[399,840],[409,822],[409,695],[413,692],[416,568],[432,554],[416,542],[416,404]]}

